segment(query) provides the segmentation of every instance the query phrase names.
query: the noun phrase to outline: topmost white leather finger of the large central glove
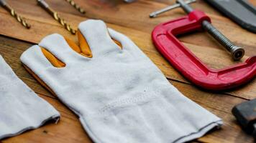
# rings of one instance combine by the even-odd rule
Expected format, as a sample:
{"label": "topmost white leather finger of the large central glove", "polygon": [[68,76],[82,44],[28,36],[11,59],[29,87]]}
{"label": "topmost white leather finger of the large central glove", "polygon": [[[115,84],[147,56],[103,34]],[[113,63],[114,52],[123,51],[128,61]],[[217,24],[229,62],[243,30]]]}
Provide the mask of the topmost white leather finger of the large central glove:
{"label": "topmost white leather finger of the large central glove", "polygon": [[104,21],[87,20],[79,24],[78,27],[88,46],[90,46],[93,56],[122,51],[109,36],[109,31]]}

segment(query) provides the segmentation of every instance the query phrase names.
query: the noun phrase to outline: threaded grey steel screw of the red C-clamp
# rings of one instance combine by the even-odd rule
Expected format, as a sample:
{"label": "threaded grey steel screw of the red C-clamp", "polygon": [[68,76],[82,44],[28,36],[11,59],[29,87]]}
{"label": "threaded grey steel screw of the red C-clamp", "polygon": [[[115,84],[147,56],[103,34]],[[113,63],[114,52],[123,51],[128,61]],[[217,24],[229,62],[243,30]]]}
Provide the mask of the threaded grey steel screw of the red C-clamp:
{"label": "threaded grey steel screw of the red C-clamp", "polygon": [[[177,0],[177,3],[180,4],[182,9],[186,11],[186,13],[189,14],[191,11],[193,11],[191,6],[186,4],[183,0]],[[217,30],[209,21],[202,21],[202,26],[209,34],[211,34],[211,36],[214,37],[214,39],[219,41],[219,43],[232,54],[232,58],[234,60],[237,61],[239,59],[242,59],[242,57],[244,56],[244,49],[234,45],[232,41],[230,41],[229,39],[227,39],[226,36],[221,34],[221,32]]]}

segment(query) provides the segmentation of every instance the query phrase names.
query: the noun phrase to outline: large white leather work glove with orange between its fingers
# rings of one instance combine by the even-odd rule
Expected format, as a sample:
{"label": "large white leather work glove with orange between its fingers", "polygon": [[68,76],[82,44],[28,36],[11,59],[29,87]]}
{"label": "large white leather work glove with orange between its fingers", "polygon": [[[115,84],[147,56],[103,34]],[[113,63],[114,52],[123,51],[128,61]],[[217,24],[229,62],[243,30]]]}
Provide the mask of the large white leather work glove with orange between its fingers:
{"label": "large white leather work glove with orange between its fingers", "polygon": [[[221,119],[178,92],[127,36],[99,20],[82,22],[79,31],[91,58],[52,34],[24,51],[21,60],[78,114],[93,142],[186,142],[221,126]],[[65,66],[52,66],[40,46]]]}

